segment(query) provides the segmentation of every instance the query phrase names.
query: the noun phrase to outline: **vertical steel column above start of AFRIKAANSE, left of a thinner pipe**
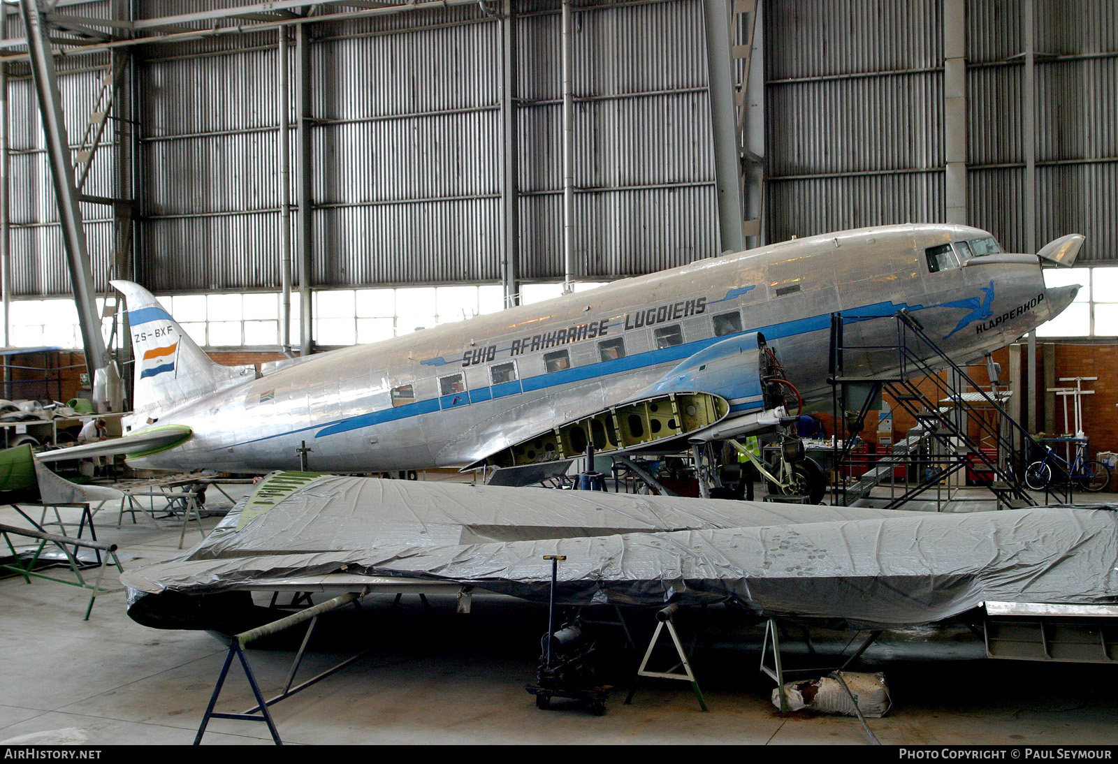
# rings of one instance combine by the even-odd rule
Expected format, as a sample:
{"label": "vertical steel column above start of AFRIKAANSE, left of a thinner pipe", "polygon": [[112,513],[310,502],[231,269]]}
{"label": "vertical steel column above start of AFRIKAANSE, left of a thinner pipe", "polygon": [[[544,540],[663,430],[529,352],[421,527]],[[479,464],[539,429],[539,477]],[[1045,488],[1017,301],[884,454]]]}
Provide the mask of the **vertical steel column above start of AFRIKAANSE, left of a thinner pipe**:
{"label": "vertical steel column above start of AFRIKAANSE, left of a thinner pipe", "polygon": [[517,27],[513,0],[504,0],[501,18],[501,217],[504,227],[501,284],[504,306],[520,304],[520,200],[517,189]]}

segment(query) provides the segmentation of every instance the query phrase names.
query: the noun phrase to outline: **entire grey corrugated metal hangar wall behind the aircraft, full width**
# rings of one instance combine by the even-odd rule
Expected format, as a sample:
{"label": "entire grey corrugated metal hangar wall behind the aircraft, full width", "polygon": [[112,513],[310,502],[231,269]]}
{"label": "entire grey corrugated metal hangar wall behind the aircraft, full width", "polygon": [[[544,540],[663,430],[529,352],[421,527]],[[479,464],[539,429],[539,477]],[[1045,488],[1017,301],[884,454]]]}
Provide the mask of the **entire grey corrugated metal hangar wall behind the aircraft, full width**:
{"label": "entire grey corrugated metal hangar wall behind the aircraft, full width", "polygon": [[[1080,231],[1081,261],[1118,261],[1118,9],[1112,0],[1035,3],[1035,238]],[[237,4],[135,8],[155,18]],[[107,13],[105,2],[67,8]],[[558,279],[559,3],[518,8],[520,270]],[[1013,249],[1027,239],[1021,9],[1018,0],[966,0],[968,214]],[[942,16],[942,0],[765,0],[769,241],[944,219]],[[9,37],[22,35],[19,26]],[[314,286],[499,280],[499,22],[459,6],[307,30]],[[581,2],[574,51],[576,276],[716,254],[701,0]],[[59,61],[72,142],[105,64]],[[152,46],[138,59],[136,275],[152,288],[278,287],[276,65],[274,32]],[[66,294],[34,90],[26,67],[11,75],[12,292]],[[112,146],[98,152],[87,192],[110,195],[114,161]],[[83,211],[105,289],[111,214]]]}

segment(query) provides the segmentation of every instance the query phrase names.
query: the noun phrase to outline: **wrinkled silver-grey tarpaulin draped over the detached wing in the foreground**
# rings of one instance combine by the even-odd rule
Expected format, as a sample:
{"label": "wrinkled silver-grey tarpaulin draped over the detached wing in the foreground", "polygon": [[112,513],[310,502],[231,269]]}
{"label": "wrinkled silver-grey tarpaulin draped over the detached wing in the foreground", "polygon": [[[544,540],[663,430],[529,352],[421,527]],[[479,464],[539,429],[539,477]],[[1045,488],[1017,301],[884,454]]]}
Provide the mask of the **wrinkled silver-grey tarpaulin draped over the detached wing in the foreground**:
{"label": "wrinkled silver-grey tarpaulin draped over the detached wing in the foreground", "polygon": [[548,554],[567,556],[569,604],[732,599],[764,615],[894,625],[986,600],[1118,601],[1106,506],[930,514],[338,476],[284,489],[284,475],[182,557],[126,572],[133,601],[341,574],[546,601]]}

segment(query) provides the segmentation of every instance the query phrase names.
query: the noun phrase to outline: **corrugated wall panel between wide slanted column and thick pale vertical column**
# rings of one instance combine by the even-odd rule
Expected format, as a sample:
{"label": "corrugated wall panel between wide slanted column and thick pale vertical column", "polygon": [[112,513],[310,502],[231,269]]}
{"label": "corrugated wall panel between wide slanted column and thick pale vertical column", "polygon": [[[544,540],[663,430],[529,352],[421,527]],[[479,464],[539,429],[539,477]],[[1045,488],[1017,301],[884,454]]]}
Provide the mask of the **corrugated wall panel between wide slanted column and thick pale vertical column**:
{"label": "corrugated wall panel between wide slanted column and thick pale vertical column", "polygon": [[765,4],[770,241],[944,217],[939,0]]}

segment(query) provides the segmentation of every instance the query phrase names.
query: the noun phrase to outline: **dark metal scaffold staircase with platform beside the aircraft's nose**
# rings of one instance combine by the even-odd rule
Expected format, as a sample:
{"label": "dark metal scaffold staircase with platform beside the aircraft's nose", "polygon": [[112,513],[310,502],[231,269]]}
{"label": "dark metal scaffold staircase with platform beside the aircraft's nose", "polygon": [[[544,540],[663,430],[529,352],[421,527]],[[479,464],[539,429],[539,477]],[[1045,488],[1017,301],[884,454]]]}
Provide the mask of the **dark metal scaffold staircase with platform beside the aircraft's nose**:
{"label": "dark metal scaffold staircase with platform beside the aircraft's nose", "polygon": [[[888,345],[847,343],[847,324],[868,319],[894,321],[896,342]],[[889,364],[893,370],[888,375],[847,373],[846,362],[852,352],[862,357],[870,353],[877,359],[894,354],[894,362]],[[947,374],[941,374],[940,370],[946,370]],[[992,477],[986,487],[994,494],[999,509],[1035,505],[1016,477],[1021,471],[1012,468],[1014,455],[1032,438],[1002,407],[1002,397],[996,391],[983,390],[907,311],[891,318],[832,314],[830,382],[836,432],[843,426],[847,433],[860,432],[879,397],[888,397],[894,402],[894,409],[907,411],[917,422],[909,436],[893,446],[891,453],[849,486],[843,475],[853,465],[851,456],[856,439],[843,438],[842,447],[835,448],[835,504],[850,506],[868,499],[877,486],[887,478],[894,479],[897,470],[903,469],[903,490],[891,491],[884,505],[897,508],[925,491],[938,491],[953,476],[957,481],[958,472],[965,475],[968,467],[980,465],[979,468]],[[995,421],[982,416],[978,407],[993,411]],[[970,433],[972,426],[975,434]],[[984,443],[996,448],[984,447]]]}

